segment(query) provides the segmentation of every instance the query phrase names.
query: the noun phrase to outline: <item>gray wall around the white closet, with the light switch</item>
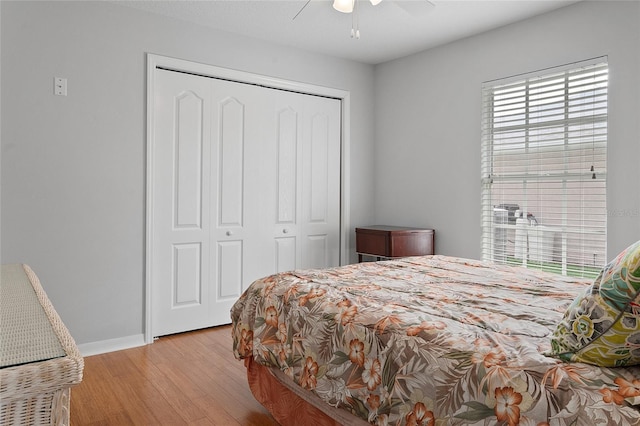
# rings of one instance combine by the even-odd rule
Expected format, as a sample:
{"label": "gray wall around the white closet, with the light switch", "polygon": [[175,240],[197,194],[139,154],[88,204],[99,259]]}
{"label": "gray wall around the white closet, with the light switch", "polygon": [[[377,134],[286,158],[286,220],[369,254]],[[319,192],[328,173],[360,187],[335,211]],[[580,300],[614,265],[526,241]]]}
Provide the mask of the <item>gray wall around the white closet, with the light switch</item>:
{"label": "gray wall around the white closet, with the light switch", "polygon": [[77,343],[144,331],[147,52],[350,91],[351,220],[372,221],[372,66],[111,3],[0,8],[1,261],[31,265]]}

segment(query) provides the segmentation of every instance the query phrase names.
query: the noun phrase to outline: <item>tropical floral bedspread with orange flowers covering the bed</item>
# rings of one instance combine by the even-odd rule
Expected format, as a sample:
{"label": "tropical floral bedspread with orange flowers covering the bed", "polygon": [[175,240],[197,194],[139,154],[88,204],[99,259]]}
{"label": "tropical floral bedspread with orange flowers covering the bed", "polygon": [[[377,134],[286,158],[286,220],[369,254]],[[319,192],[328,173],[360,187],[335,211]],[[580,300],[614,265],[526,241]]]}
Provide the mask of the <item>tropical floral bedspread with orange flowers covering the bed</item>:
{"label": "tropical floral bedspread with orange flowers covering the bed", "polygon": [[233,350],[374,425],[640,424],[640,368],[542,355],[587,284],[444,256],[282,273],[232,308]]}

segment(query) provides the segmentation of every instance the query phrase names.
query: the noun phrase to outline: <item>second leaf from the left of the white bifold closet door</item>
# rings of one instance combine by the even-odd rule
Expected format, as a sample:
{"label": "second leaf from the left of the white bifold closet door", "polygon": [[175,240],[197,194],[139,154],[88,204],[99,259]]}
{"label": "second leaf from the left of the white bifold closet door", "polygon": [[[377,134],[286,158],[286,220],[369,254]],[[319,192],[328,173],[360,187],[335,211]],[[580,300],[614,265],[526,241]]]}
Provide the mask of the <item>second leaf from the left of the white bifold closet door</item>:
{"label": "second leaf from the left of the white bifold closet door", "polygon": [[[265,88],[212,79],[212,153],[215,226],[212,315],[229,321],[229,309],[254,280],[273,273],[273,247],[260,226],[264,180],[275,163],[275,124]],[[270,181],[273,187],[273,180]],[[272,189],[273,190],[273,189]],[[273,201],[271,201],[273,204]]]}

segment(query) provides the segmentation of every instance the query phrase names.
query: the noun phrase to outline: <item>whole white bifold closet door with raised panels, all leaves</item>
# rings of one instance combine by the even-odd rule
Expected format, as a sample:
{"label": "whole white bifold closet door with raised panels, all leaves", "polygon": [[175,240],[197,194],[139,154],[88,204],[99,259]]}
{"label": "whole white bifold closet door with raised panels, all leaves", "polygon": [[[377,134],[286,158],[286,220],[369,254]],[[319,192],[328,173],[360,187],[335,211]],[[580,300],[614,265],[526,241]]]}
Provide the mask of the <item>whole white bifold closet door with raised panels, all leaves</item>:
{"label": "whole white bifold closet door with raised panels, all leaves", "polygon": [[339,100],[168,70],[154,93],[153,336],[229,323],[257,278],[338,265]]}

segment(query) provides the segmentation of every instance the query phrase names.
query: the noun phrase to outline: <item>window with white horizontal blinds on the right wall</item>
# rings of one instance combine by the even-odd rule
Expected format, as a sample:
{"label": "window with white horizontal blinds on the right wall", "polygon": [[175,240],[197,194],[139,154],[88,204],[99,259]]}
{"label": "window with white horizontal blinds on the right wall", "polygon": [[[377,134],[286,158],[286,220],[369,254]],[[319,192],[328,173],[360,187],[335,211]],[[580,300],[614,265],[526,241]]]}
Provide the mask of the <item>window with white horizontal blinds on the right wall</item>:
{"label": "window with white horizontal blinds on the right wall", "polygon": [[483,259],[606,263],[607,86],[606,58],[483,84]]}

